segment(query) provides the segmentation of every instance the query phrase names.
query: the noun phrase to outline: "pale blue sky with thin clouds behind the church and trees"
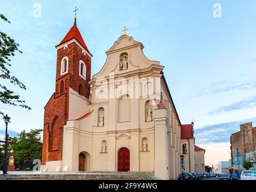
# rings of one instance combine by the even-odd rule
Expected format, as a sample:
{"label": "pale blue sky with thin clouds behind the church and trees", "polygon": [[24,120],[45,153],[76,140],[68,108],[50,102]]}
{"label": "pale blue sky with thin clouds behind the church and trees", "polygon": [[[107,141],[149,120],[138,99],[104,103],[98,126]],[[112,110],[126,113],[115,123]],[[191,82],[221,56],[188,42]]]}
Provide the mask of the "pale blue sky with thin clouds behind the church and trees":
{"label": "pale blue sky with thin clouds behind the church and trees", "polygon": [[[11,24],[0,21],[0,31],[23,52],[11,59],[10,71],[27,89],[10,88],[32,108],[0,105],[11,117],[11,131],[43,128],[43,108],[55,91],[55,46],[72,27],[75,6],[78,28],[93,54],[91,75],[102,68],[106,50],[127,26],[127,34],[144,44],[145,56],[165,65],[181,123],[194,121],[206,164],[230,158],[230,134],[240,124],[256,126],[254,0],[1,0],[0,13]],[[4,128],[0,122],[0,137]]]}

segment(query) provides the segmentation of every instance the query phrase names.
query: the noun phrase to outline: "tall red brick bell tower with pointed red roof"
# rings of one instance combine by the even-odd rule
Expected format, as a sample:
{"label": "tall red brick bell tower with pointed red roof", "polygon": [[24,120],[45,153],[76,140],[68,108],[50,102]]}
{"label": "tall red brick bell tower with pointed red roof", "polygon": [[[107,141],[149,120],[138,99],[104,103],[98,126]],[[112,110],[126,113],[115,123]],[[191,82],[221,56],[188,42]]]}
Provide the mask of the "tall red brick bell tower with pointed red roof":
{"label": "tall red brick bell tower with pointed red roof", "polygon": [[44,107],[42,165],[46,161],[62,160],[63,126],[69,120],[70,89],[89,97],[91,53],[75,23],[56,46],[55,92]]}

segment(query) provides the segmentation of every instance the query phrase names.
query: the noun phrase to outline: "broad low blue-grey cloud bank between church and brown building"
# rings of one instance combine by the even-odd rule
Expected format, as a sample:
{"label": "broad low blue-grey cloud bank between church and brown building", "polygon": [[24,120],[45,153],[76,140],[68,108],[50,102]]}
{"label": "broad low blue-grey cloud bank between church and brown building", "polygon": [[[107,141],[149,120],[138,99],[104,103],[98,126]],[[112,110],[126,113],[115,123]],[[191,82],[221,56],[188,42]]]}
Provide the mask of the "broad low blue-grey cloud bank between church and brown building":
{"label": "broad low blue-grey cloud bank between church and brown building", "polygon": [[230,142],[230,135],[240,131],[240,125],[246,122],[255,126],[256,118],[195,128],[195,140],[198,144]]}

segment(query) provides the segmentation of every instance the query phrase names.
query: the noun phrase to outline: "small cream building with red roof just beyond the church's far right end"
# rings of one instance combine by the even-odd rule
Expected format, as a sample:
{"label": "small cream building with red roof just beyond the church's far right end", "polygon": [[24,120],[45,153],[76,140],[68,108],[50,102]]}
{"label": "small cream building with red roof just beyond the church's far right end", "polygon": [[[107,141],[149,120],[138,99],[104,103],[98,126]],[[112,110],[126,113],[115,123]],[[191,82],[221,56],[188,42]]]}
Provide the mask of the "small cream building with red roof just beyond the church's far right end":
{"label": "small cream building with red roof just beyond the church's far right end", "polygon": [[195,172],[204,173],[204,154],[206,149],[202,149],[199,146],[195,145]]}

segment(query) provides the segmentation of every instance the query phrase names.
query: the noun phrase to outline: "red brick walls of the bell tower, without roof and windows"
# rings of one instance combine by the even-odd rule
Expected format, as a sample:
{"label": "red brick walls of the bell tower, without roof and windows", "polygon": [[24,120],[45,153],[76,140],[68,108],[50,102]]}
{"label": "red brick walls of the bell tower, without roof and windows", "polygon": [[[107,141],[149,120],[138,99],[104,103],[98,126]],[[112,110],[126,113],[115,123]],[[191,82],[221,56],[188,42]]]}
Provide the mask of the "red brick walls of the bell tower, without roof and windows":
{"label": "red brick walls of the bell tower, without roof and windows", "polygon": [[[68,73],[61,75],[61,60],[69,58]],[[79,62],[84,61],[87,66],[86,80],[79,76]],[[46,161],[62,160],[63,126],[69,119],[69,88],[79,91],[81,95],[89,97],[91,79],[91,58],[82,53],[81,47],[75,42],[70,43],[67,49],[59,48],[56,61],[55,93],[44,107],[43,154],[42,164]],[[61,84],[63,91],[61,92]]]}

